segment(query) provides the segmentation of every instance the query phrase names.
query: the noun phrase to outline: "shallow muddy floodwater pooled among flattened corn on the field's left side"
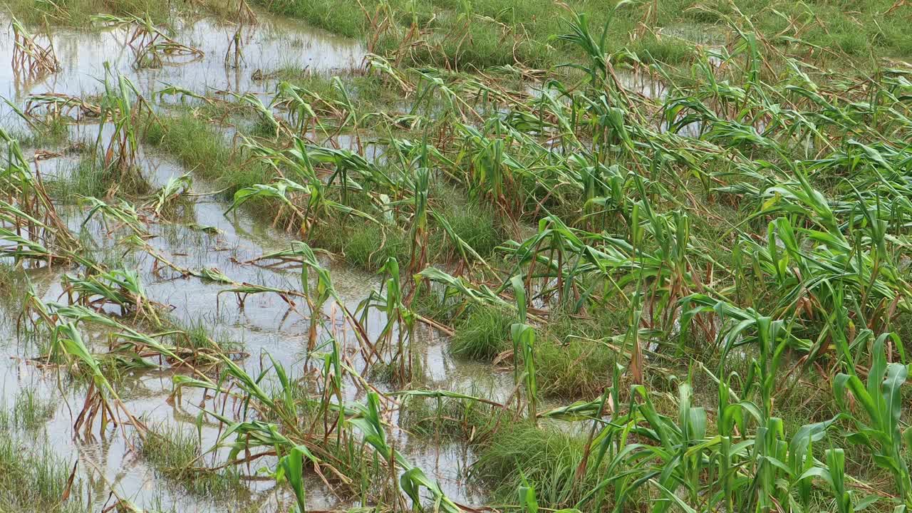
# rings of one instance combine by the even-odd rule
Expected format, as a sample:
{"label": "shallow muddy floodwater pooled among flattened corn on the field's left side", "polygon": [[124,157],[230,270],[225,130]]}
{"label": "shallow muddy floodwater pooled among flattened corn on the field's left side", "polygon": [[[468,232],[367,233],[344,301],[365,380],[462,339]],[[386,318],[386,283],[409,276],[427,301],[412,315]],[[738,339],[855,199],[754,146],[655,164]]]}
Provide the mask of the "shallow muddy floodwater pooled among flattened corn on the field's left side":
{"label": "shallow muddy floodwater pooled among flattened corn on the field's left side", "polygon": [[[329,37],[296,24],[261,16],[260,23],[252,28],[244,41],[244,62],[238,68],[226,67],[224,55],[234,34],[233,26],[223,26],[212,20],[201,19],[181,23],[175,39],[186,45],[198,47],[202,58],[165,62],[161,68],[135,69],[134,56],[126,47],[126,34],[120,29],[97,33],[61,30],[52,40],[63,69],[34,82],[18,80],[9,68],[0,68],[0,96],[21,105],[28,94],[54,92],[84,96],[98,93],[103,86],[98,81],[105,74],[105,62],[129,77],[140,88],[140,93],[150,95],[165,83],[173,83],[198,92],[212,89],[236,92],[259,91],[269,87],[255,80],[257,69],[295,66],[325,71],[335,68],[352,68],[360,64],[364,48],[347,39]],[[12,37],[0,35],[0,62],[11,58]],[[6,109],[6,107],[3,107]],[[2,110],[0,120],[16,123],[8,110]],[[93,130],[96,132],[93,133]],[[97,126],[82,126],[78,133],[94,135]],[[41,173],[47,176],[71,173],[78,165],[78,155],[65,155],[40,162]],[[188,173],[166,156],[140,152],[140,168],[153,187],[161,187],[171,177]],[[174,222],[152,222],[148,225],[151,237],[148,244],[161,256],[176,266],[189,269],[218,269],[235,282],[254,283],[281,289],[300,289],[300,273],[295,267],[269,267],[251,263],[264,253],[286,249],[294,242],[280,229],[249,212],[235,211],[225,215],[228,204],[215,194],[212,183],[194,180],[192,195],[180,219]],[[110,252],[109,257],[119,259],[124,265],[140,274],[150,299],[170,309],[172,319],[181,326],[199,323],[220,340],[231,340],[249,355],[239,361],[248,372],[259,372],[268,354],[280,362],[294,376],[314,372],[314,362],[305,368],[309,316],[306,305],[288,303],[276,295],[251,296],[239,303],[233,293],[225,293],[224,284],[184,277],[173,269],[156,270],[155,262],[142,251],[127,254],[116,244],[122,231],[111,229],[100,216],[84,222],[86,211],[71,209],[67,212],[67,225],[74,233],[82,235],[95,248],[97,257]],[[204,227],[205,229],[201,229]],[[329,268],[334,285],[348,309],[355,310],[372,289],[379,287],[379,279],[371,274],[347,267],[328,257],[321,257]],[[4,264],[10,262],[3,261]],[[30,269],[28,280],[36,294],[45,301],[66,302],[61,284],[64,273],[76,275],[78,268]],[[231,497],[207,497],[188,493],[180,484],[161,476],[136,450],[136,440],[129,430],[109,427],[102,433],[74,436],[75,415],[85,400],[85,385],[70,382],[53,367],[44,367],[30,361],[40,354],[42,340],[28,340],[17,326],[18,304],[15,298],[0,303],[0,353],[5,356],[0,366],[0,386],[6,407],[15,403],[17,394],[34,390],[53,404],[53,414],[46,424],[24,434],[24,447],[36,449],[40,445],[54,447],[57,456],[67,461],[78,460],[78,480],[85,486],[84,500],[88,510],[98,511],[111,503],[110,490],[118,497],[127,498],[141,508],[163,511],[281,511],[287,510],[293,496],[285,487],[275,487],[275,480],[260,469],[274,467],[275,460],[264,458],[252,466],[240,469],[244,474],[244,491]],[[114,313],[114,312],[110,312]],[[324,314],[338,316],[332,306]],[[377,336],[386,323],[378,310],[370,310],[366,327],[368,334]],[[334,324],[333,333],[339,340],[349,361],[359,368],[358,341],[342,322]],[[102,349],[107,343],[105,333],[87,333],[93,348]],[[495,401],[503,401],[512,389],[512,377],[493,372],[490,366],[467,363],[451,358],[447,339],[440,332],[427,327],[417,330],[415,348],[429,388],[447,389],[463,393],[479,393]],[[154,360],[154,359],[153,359]],[[152,361],[153,363],[155,361]],[[167,366],[166,366],[167,367]],[[174,371],[165,369],[132,369],[119,376],[121,397],[130,410],[145,424],[156,427],[177,426],[178,429],[199,436],[203,450],[214,445],[224,427],[204,422],[197,424],[202,393],[183,389],[180,401],[171,396]],[[392,391],[385,383],[376,383],[378,390]],[[362,401],[358,388],[344,388],[344,399]],[[398,412],[392,412],[390,425],[396,426]],[[482,500],[479,490],[465,482],[464,469],[473,461],[471,450],[463,445],[432,445],[415,440],[403,430],[391,428],[391,439],[413,464],[420,466],[429,476],[440,480],[440,486],[454,500],[477,504]],[[205,456],[204,464],[217,466],[225,460],[226,452],[219,449]],[[307,485],[309,508],[330,509],[357,506],[351,497],[337,497],[316,477]]]}

